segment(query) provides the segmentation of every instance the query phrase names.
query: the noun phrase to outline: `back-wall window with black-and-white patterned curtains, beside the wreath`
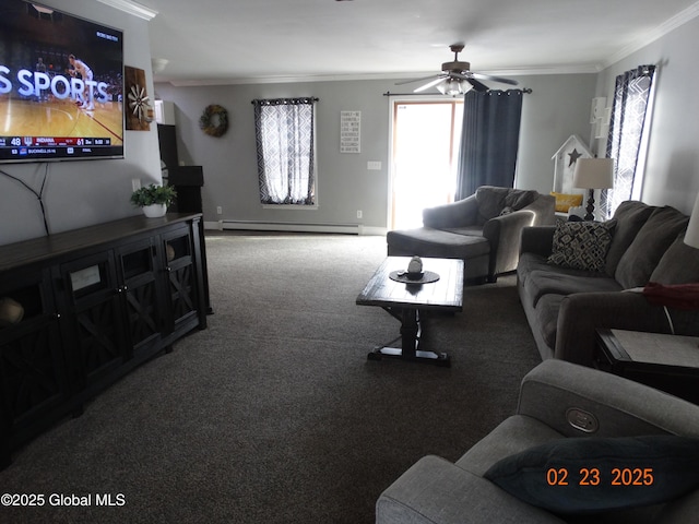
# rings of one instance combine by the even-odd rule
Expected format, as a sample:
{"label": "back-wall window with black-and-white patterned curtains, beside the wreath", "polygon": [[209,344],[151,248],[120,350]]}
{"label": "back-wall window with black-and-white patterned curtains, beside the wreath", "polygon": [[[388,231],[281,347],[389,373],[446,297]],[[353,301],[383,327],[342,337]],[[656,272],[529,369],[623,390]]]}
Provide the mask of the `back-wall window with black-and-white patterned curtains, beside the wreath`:
{"label": "back-wall window with black-and-white patterned curtains, beside the wreath", "polygon": [[316,102],[252,100],[262,204],[316,205]]}

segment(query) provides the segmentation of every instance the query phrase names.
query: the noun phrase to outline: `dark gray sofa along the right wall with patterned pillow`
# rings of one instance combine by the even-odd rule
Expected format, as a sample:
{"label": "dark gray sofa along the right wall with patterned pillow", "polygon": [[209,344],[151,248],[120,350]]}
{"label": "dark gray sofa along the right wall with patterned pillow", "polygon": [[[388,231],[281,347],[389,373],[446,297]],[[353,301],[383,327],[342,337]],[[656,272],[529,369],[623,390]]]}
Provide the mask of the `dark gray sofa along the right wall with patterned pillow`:
{"label": "dark gray sofa along the right wall with patterned pillow", "polygon": [[592,366],[596,327],[671,333],[672,322],[676,334],[699,335],[697,311],[670,309],[668,321],[639,293],[649,282],[699,282],[699,250],[683,241],[688,221],[628,201],[603,224],[525,228],[519,295],[542,358]]}

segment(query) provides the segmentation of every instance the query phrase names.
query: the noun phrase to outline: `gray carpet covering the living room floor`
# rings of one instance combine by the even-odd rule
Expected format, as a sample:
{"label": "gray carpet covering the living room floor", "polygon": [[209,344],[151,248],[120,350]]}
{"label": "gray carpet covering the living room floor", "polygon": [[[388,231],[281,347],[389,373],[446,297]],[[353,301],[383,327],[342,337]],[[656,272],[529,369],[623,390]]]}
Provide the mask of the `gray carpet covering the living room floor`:
{"label": "gray carpet covering the living room floor", "polygon": [[14,453],[0,491],[46,503],[0,522],[370,523],[420,456],[454,461],[510,415],[540,362],[513,276],[427,320],[451,368],[367,361],[399,327],[355,305],[383,238],[217,234],[206,248],[208,330]]}

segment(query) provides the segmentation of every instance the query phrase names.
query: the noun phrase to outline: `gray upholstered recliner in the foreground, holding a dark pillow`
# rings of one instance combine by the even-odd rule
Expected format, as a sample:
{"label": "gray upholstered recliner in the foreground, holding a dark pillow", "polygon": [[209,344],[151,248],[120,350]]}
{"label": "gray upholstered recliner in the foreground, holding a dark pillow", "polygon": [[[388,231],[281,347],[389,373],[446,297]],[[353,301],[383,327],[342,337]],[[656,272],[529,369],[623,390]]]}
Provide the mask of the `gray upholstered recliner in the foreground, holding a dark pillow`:
{"label": "gray upholstered recliner in the foreground, holding a dark pillow", "polygon": [[[395,480],[378,499],[377,524],[490,524],[490,523],[635,523],[697,522],[699,489],[690,488],[667,502],[593,514],[553,513],[524,502],[484,478],[498,461],[541,444],[594,443],[594,439],[638,436],[699,438],[699,406],[627,379],[576,364],[549,359],[524,377],[517,413],[451,463],[425,456]],[[648,438],[648,437],[643,437]],[[593,444],[594,445],[594,444]],[[696,448],[696,443],[694,443]],[[689,453],[679,457],[696,469]],[[655,457],[665,460],[657,453]],[[592,460],[582,455],[582,460]],[[667,457],[667,461],[671,458]],[[640,456],[631,463],[644,467]],[[643,463],[643,464],[641,464]],[[571,468],[572,469],[572,468]],[[574,472],[577,473],[577,472]],[[668,488],[668,476],[655,474],[655,487]],[[546,475],[541,474],[542,477]],[[571,472],[571,483],[573,484]],[[553,487],[552,490],[562,487]],[[600,489],[615,496],[605,478]],[[638,490],[650,489],[641,487]],[[636,491],[637,493],[639,491]],[[602,492],[602,491],[601,491]],[[644,492],[640,491],[643,496]],[[555,495],[556,491],[554,491]],[[650,493],[650,491],[649,491]],[[606,496],[605,495],[605,496]]]}

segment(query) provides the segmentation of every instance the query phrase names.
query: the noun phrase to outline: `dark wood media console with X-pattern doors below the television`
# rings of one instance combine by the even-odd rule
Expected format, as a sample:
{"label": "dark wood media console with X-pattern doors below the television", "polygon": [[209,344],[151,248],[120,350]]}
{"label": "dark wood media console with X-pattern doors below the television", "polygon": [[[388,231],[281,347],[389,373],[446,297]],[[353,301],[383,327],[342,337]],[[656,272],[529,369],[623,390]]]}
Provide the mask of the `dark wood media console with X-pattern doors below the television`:
{"label": "dark wood media console with X-pattern doors below the television", "polygon": [[133,216],[0,246],[0,468],[11,452],[206,327],[201,214]]}

